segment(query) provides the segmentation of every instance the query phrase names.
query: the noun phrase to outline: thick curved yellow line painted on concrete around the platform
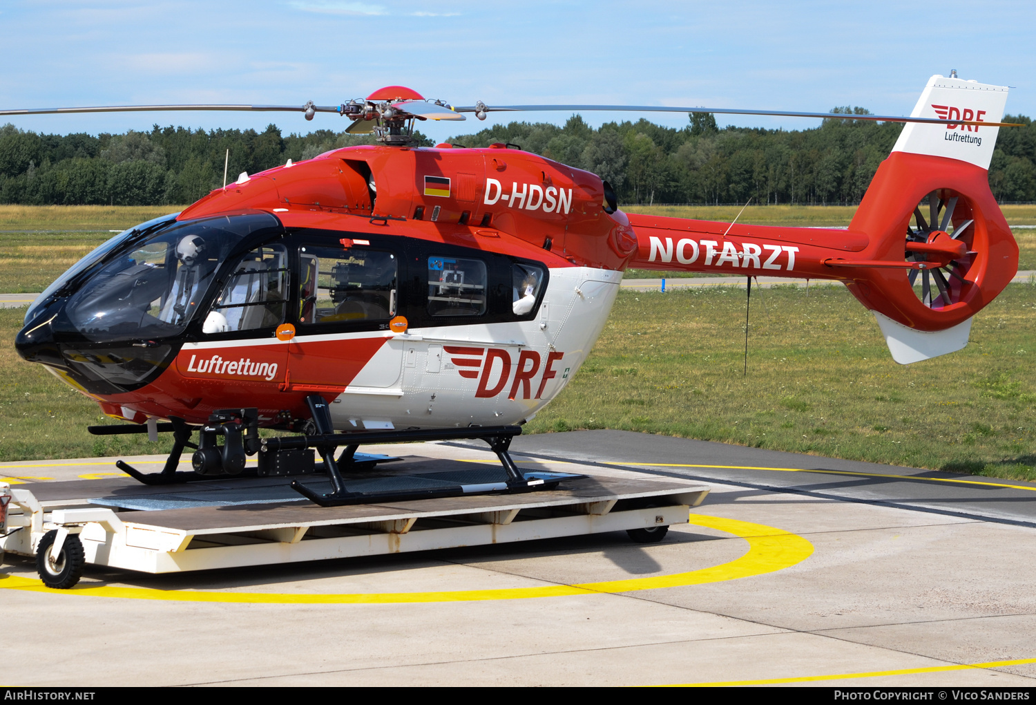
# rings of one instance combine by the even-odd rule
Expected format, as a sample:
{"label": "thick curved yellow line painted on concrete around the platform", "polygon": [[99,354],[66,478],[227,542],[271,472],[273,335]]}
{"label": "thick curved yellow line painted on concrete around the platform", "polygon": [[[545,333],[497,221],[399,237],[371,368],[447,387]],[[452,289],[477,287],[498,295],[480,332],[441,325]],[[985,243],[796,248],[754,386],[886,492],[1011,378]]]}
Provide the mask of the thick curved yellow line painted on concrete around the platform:
{"label": "thick curved yellow line painted on concrete around the platform", "polygon": [[0,588],[28,592],[89,595],[94,597],[127,597],[165,599],[188,602],[256,602],[277,604],[384,604],[396,602],[467,602],[488,599],[527,599],[530,597],[562,597],[594,593],[617,593],[635,590],[656,590],[686,585],[721,583],[750,575],[761,575],[801,563],[813,553],[813,544],[783,529],[761,524],[739,521],[719,516],[691,514],[690,524],[733,534],[748,542],[748,552],[728,563],[689,572],[631,577],[603,583],[579,585],[545,585],[536,588],[502,590],[452,590],[444,592],[379,592],[356,594],[292,594],[264,592],[202,592],[193,590],[155,590],[151,588],[116,588],[78,585],[71,590],[52,590],[40,581],[8,575],[0,580]]}

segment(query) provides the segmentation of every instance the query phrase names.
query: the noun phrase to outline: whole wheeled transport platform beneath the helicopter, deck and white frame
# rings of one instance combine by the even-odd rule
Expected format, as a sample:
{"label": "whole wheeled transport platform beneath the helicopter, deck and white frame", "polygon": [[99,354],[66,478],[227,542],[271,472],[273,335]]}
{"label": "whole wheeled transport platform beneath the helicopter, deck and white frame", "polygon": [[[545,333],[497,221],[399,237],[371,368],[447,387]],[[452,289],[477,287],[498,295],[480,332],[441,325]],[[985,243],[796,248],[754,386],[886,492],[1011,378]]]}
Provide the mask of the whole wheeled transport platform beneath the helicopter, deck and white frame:
{"label": "whole wheeled transport platform beneath the helicopter, deck and white frame", "polygon": [[[378,504],[320,507],[290,487],[291,477],[217,479],[149,486],[131,478],[5,487],[10,496],[0,547],[36,556],[52,587],[81,561],[168,573],[376,556],[628,531],[661,540],[686,524],[708,487],[686,480],[541,476],[555,488]],[[353,491],[459,485],[465,492],[505,487],[495,464],[409,456],[391,471],[348,477]],[[328,481],[307,478],[314,490]],[[63,552],[63,553],[62,553]],[[81,554],[82,558],[78,558]],[[57,558],[55,558],[57,557]],[[46,563],[45,563],[46,562]],[[51,580],[48,580],[48,579]],[[76,575],[75,580],[78,580]],[[65,580],[67,582],[67,580]],[[71,585],[75,581],[71,581]]]}

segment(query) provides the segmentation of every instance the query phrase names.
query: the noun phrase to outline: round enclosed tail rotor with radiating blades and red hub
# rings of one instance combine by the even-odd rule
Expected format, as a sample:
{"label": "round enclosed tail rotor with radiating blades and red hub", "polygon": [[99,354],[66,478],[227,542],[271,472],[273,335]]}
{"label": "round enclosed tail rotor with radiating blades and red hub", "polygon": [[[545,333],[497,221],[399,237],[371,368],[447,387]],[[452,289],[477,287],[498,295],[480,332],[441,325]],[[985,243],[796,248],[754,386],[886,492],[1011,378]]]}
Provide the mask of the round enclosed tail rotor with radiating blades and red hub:
{"label": "round enclosed tail rotor with radiating blades and red hub", "polygon": [[906,225],[905,258],[923,267],[906,275],[915,293],[930,309],[960,303],[974,285],[968,274],[978,254],[971,204],[950,189],[937,189],[914,208],[913,221]]}

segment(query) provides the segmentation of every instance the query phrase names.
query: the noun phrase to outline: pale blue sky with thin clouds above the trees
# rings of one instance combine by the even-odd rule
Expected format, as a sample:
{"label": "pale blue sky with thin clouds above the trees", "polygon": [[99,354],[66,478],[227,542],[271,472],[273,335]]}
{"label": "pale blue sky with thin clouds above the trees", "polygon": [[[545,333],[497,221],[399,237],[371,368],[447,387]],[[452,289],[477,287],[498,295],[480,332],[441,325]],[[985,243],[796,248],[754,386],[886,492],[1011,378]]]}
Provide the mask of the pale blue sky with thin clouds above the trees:
{"label": "pale blue sky with thin clouds above the trees", "polygon": [[[243,103],[338,105],[404,85],[453,105],[629,104],[908,115],[933,74],[1012,87],[1036,117],[1036,3],[538,2],[534,0],[0,1],[0,108]],[[528,113],[564,123],[570,113]],[[644,115],[683,126],[683,113]],[[636,119],[584,113],[594,125]],[[431,121],[435,140],[486,122]],[[344,130],[297,113],[0,117],[47,133],[159,123],[284,134]],[[720,125],[814,126],[717,116]]]}

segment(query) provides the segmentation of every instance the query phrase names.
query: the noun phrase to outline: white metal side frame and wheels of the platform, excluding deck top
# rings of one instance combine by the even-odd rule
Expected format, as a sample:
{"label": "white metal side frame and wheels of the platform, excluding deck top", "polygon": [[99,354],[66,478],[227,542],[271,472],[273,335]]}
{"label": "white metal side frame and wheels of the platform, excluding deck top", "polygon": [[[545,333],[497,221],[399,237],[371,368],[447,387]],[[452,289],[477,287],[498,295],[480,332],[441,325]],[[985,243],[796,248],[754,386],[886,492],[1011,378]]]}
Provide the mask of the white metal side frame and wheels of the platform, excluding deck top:
{"label": "white metal side frame and wheels of the platform, excluding deck top", "polygon": [[29,488],[0,483],[0,497],[10,498],[0,552],[35,556],[45,584],[66,588],[78,582],[84,564],[171,573],[614,531],[651,543],[670,525],[688,523],[690,509],[708,492],[685,482],[598,476],[568,482],[565,489],[383,505],[115,511],[83,499],[40,502]]}

